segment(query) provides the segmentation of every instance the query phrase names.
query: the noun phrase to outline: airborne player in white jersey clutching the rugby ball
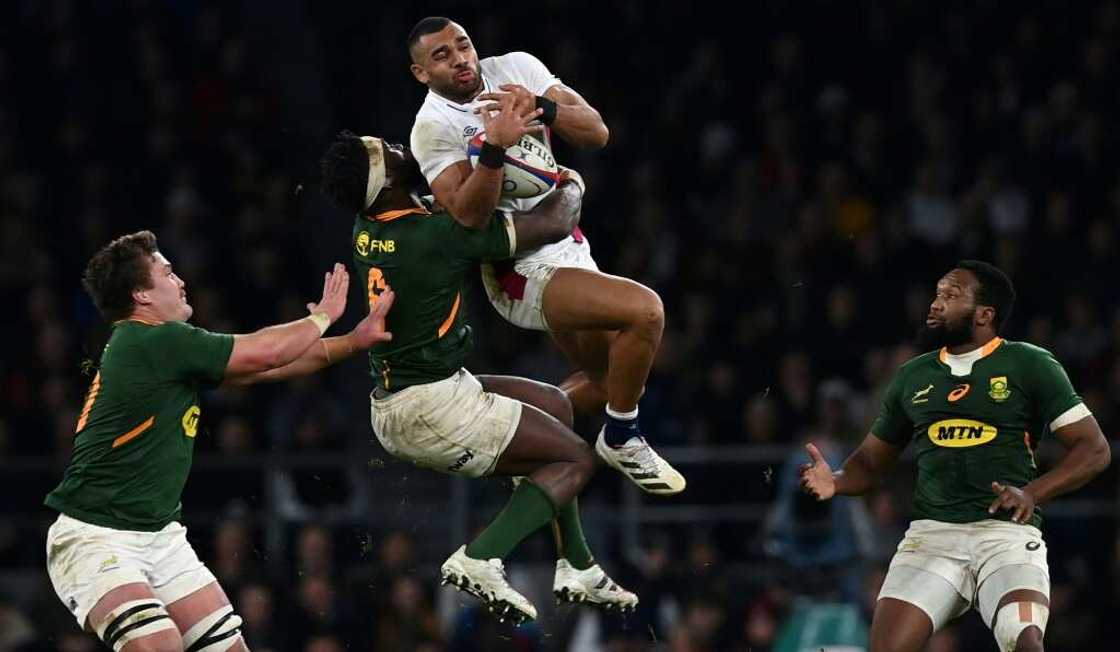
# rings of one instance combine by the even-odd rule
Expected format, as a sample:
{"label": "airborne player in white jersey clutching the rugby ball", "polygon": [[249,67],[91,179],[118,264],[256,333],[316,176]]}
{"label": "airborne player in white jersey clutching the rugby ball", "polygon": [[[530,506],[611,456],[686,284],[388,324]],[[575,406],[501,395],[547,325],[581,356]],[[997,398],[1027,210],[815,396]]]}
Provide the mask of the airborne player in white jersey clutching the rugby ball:
{"label": "airborne player in white jersey clutching the rugby ball", "polygon": [[[603,118],[536,57],[522,52],[478,59],[467,32],[447,18],[424,18],[409,35],[412,74],[428,95],[412,125],[411,149],[436,201],[468,229],[495,209],[529,211],[545,195],[502,197],[505,149],[529,133],[579,148],[601,148]],[[492,113],[535,110],[541,124],[519,132],[487,130]],[[486,132],[478,165],[467,143]],[[562,383],[580,413],[606,408],[596,451],[643,491],[675,494],[684,477],[646,443],[638,399],[661,343],[664,313],[656,292],[599,271],[577,227],[561,242],[483,266],[491,304],[510,323],[544,330],[581,371]]]}

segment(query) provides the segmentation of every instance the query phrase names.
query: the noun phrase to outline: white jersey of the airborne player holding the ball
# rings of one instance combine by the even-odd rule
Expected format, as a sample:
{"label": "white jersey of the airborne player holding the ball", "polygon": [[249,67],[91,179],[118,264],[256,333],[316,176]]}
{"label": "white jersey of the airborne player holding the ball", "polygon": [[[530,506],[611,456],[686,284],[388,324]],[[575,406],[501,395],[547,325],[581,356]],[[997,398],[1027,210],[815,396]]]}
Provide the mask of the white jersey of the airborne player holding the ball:
{"label": "white jersey of the airborne player holding the ball", "polygon": [[[534,95],[543,95],[552,86],[560,85],[560,78],[553,75],[540,59],[524,52],[486,57],[478,62],[482,71],[482,93],[501,92],[503,84],[517,84],[528,89]],[[487,102],[470,101],[459,104],[428,91],[420,111],[417,112],[412,125],[410,147],[412,156],[420,164],[428,183],[432,183],[448,167],[467,160],[467,145],[470,139],[483,132],[483,121],[475,109]],[[551,150],[552,139],[548,129],[544,130],[544,143]],[[549,190],[551,193],[552,190]],[[498,201],[500,211],[529,211],[541,202],[549,193],[536,197],[516,199],[503,197]],[[586,242],[577,231],[575,236],[568,236],[560,242],[547,244],[534,251],[519,255],[520,262],[548,263],[560,261],[564,251]]]}

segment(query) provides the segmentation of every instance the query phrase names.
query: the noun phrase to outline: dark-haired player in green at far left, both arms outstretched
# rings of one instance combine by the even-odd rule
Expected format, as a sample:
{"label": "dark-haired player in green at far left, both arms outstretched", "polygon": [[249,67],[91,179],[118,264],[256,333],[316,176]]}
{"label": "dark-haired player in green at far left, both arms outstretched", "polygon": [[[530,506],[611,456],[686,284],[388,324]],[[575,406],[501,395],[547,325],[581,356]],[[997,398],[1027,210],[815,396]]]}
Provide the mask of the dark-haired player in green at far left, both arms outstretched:
{"label": "dark-haired player in green at far left, both arms outstretched", "polygon": [[105,245],[83,283],[113,325],[78,416],[62,483],[46,497],[47,572],[77,620],[113,650],[246,650],[241,618],[179,524],[199,391],[320,370],[388,341],[382,296],[351,333],[323,338],[349,274],[328,272],[310,315],[248,335],[187,324],[186,285],[150,231]]}

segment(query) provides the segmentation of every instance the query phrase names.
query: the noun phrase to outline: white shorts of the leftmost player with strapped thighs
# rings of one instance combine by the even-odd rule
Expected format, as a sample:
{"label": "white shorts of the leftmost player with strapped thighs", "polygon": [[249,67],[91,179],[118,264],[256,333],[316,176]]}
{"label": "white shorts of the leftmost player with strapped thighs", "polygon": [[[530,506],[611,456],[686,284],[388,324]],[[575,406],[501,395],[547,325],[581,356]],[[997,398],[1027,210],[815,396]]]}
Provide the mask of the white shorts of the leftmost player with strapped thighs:
{"label": "white shorts of the leftmost player with strapped thighs", "polygon": [[47,575],[82,628],[90,609],[119,586],[147,583],[169,605],[216,581],[180,523],[139,532],[102,528],[66,514],[59,514],[47,531]]}

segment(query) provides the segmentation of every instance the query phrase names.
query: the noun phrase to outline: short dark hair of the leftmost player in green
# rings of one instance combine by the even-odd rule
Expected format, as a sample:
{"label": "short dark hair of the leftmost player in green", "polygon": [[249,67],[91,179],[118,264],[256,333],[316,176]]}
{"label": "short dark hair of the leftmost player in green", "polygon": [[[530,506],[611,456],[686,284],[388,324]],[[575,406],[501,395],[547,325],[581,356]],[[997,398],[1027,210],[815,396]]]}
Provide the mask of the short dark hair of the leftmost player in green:
{"label": "short dark hair of the leftmost player in green", "polygon": [[132,314],[132,291],[151,287],[149,261],[159,251],[156,234],[138,231],[102,246],[85,266],[82,286],[106,322]]}

